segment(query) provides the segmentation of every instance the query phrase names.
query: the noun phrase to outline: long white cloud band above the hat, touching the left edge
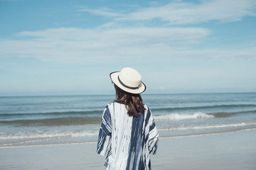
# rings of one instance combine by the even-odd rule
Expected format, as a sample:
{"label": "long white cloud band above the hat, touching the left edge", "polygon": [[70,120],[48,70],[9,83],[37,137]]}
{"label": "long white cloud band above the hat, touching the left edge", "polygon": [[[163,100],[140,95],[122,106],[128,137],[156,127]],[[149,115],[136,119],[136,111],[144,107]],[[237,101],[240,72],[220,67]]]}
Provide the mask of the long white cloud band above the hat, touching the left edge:
{"label": "long white cloud band above the hat, touching the left edge", "polygon": [[210,34],[205,28],[55,28],[18,33],[0,40],[1,57],[35,57],[57,62],[105,61],[120,57],[169,57]]}

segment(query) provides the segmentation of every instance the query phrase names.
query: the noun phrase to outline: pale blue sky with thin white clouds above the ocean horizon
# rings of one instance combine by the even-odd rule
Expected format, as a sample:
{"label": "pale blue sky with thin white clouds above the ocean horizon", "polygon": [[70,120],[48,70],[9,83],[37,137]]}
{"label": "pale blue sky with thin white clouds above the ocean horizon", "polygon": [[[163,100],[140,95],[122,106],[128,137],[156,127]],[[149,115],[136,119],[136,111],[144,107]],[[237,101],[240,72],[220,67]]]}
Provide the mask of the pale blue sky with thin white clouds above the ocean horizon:
{"label": "pale blue sky with thin white clouds above the ocean horizon", "polygon": [[256,1],[0,0],[0,96],[256,91]]}

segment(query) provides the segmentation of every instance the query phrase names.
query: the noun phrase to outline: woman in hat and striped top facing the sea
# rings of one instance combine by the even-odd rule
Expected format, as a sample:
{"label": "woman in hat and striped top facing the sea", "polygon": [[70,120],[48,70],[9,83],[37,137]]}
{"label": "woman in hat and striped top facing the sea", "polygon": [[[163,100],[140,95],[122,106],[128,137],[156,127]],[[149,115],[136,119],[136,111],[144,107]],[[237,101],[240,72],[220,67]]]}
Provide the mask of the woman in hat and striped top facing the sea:
{"label": "woman in hat and striped top facing the sea", "polygon": [[140,94],[146,90],[135,69],[112,72],[117,99],[102,115],[97,153],[106,156],[107,169],[151,169],[149,154],[156,154],[159,135]]}

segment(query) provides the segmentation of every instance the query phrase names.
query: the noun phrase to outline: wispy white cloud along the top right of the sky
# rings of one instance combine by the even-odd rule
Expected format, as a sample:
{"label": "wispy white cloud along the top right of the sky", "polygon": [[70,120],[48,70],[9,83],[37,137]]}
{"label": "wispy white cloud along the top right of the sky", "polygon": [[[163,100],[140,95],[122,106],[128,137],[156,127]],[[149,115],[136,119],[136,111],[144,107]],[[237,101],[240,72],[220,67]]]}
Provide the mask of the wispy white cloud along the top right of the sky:
{"label": "wispy white cloud along the top right of the sky", "polygon": [[208,21],[240,21],[245,16],[256,16],[255,0],[210,0],[188,3],[171,1],[164,6],[136,8],[129,13],[112,12],[110,9],[80,9],[100,16],[112,16],[115,21],[151,21],[159,19],[169,24],[193,24]]}

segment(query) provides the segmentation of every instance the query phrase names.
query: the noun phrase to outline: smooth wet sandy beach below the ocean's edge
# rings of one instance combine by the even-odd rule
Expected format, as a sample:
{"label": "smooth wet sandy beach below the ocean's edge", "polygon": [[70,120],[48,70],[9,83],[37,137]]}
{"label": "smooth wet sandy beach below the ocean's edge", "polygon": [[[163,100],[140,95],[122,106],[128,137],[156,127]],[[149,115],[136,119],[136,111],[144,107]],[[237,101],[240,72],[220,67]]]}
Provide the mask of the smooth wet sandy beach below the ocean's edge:
{"label": "smooth wet sandy beach below the ocean's edge", "polygon": [[[0,149],[0,169],[104,169],[96,143]],[[152,169],[256,169],[256,130],[161,138]]]}

